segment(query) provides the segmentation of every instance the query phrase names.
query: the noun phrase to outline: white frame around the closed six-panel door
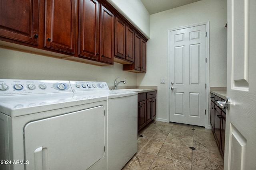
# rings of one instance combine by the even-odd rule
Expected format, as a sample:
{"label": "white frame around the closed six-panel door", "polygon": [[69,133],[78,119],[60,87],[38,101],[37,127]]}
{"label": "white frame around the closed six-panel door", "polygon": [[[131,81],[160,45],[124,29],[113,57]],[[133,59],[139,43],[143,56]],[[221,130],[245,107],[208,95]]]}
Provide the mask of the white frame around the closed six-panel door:
{"label": "white frame around the closed six-panel door", "polygon": [[172,29],[168,29],[168,72],[167,72],[167,122],[170,122],[170,36],[171,36],[171,31],[176,31],[178,29],[184,29],[184,28],[189,28],[189,27],[195,27],[195,26],[199,26],[199,25],[205,25],[206,26],[206,32],[207,32],[207,36],[206,36],[206,93],[205,93],[205,109],[206,109],[206,115],[205,115],[205,120],[204,120],[204,126],[207,129],[212,129],[210,124],[209,124],[209,21],[207,22],[202,22],[202,23],[196,23],[196,24],[192,24],[192,25],[186,25],[183,27],[177,27],[177,28],[172,28]]}

